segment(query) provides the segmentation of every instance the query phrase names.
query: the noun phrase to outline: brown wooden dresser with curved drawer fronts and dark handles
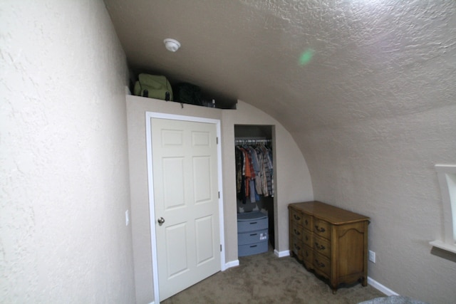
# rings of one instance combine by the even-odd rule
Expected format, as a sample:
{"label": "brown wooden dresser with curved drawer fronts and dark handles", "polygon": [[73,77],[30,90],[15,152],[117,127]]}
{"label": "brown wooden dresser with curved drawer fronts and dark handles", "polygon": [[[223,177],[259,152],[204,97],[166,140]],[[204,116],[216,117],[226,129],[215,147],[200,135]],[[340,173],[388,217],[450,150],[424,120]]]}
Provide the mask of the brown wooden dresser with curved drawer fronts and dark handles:
{"label": "brown wooden dresser with curved drawer fronts and dark handles", "polygon": [[289,204],[290,255],[309,271],[340,284],[368,279],[369,218],[320,201]]}

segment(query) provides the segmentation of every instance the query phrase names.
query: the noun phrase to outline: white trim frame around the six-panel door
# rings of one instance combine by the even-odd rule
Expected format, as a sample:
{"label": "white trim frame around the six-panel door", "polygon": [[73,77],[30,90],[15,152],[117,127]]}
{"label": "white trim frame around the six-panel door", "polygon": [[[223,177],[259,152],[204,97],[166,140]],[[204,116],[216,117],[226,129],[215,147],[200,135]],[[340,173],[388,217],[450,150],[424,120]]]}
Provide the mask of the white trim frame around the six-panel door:
{"label": "white trim frame around the six-panel door", "polygon": [[219,234],[220,244],[220,269],[225,270],[225,243],[224,243],[224,217],[223,217],[223,184],[222,184],[222,140],[220,132],[220,120],[204,117],[194,117],[185,115],[173,115],[160,112],[145,112],[145,132],[146,132],[146,152],[147,152],[147,187],[149,189],[149,212],[150,212],[150,244],[152,249],[152,278],[154,288],[154,302],[160,303],[160,292],[158,287],[158,263],[157,263],[157,242],[155,238],[155,201],[154,201],[154,183],[152,174],[152,135],[150,130],[151,118],[162,118],[167,120],[185,120],[191,122],[206,122],[215,124],[217,127],[217,169],[218,169],[218,187],[219,187]]}

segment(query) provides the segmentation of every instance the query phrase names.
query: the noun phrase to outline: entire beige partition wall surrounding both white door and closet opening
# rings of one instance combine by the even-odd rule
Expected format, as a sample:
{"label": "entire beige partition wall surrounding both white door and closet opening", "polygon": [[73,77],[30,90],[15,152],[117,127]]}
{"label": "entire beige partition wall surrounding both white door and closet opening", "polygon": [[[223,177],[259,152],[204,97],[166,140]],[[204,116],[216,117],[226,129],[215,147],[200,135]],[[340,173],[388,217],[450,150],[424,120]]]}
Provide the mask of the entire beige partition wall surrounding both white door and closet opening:
{"label": "entire beige partition wall surrounding both white door and closet opening", "polygon": [[181,108],[180,103],[127,96],[133,251],[138,303],[150,303],[154,299],[145,150],[146,111],[221,120],[224,239],[227,265],[237,262],[234,125],[274,125],[276,140],[276,250],[281,253],[288,251],[288,210],[286,206],[290,202],[306,201],[313,198],[309,170],[291,135],[276,120],[242,101],[239,101],[237,108],[238,110],[219,110],[194,105],[184,105],[184,108]]}

